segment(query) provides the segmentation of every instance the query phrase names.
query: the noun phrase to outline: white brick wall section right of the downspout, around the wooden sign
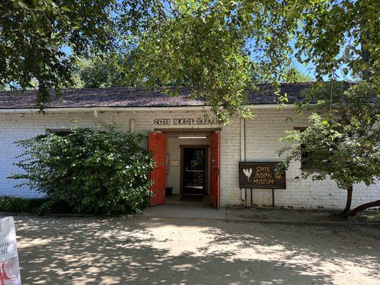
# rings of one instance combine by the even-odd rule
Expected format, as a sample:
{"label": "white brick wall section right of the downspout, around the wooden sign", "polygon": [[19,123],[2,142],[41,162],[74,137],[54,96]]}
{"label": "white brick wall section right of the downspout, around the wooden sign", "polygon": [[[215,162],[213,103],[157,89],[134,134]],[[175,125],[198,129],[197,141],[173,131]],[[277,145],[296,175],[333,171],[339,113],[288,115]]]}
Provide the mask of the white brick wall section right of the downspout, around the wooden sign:
{"label": "white brick wall section right of the downspout, around the wooden sign", "polygon": [[[302,117],[294,111],[261,109],[253,110],[257,115],[253,120],[246,121],[246,160],[247,161],[278,161],[277,150],[284,146],[279,138],[286,135],[285,130],[294,127],[307,126],[307,115]],[[291,117],[292,120],[287,120]],[[340,209],[346,202],[346,191],[340,190],[332,180],[312,181],[303,180],[300,162],[293,162],[287,171],[287,189],[275,190],[275,204],[277,206],[294,208]],[[254,190],[252,195],[255,204],[272,204],[272,190]],[[380,199],[380,183],[366,187],[355,185],[353,206],[364,202]]]}

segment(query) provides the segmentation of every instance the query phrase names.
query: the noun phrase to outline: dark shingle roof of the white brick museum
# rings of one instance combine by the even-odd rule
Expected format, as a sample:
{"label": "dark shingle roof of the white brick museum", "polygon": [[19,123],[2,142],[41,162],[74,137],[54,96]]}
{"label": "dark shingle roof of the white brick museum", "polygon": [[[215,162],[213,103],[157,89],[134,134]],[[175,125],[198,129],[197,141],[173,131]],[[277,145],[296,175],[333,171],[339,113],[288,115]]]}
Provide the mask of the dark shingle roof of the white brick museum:
{"label": "dark shingle roof of the white brick museum", "polygon": [[[289,102],[302,101],[301,91],[311,83],[284,83],[281,93],[287,93]],[[277,103],[272,86],[261,84],[259,90],[252,90],[247,104]],[[205,105],[205,100],[190,100],[190,88],[181,88],[180,95],[170,97],[161,90],[148,91],[143,88],[86,88],[65,89],[63,102],[52,95],[47,108],[90,108],[90,107],[179,107]],[[0,91],[0,109],[34,108],[36,90]]]}

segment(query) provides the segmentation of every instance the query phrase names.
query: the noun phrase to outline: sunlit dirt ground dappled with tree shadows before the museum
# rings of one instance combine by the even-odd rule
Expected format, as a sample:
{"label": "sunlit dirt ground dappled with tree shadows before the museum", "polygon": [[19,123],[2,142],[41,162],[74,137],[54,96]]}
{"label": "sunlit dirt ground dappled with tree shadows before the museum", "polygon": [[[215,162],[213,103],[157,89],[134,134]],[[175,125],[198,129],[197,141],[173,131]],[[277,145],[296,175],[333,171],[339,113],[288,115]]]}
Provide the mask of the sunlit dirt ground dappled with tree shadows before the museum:
{"label": "sunlit dirt ground dappled with tree shadows before the museum", "polygon": [[380,284],[380,229],[15,217],[27,284]]}

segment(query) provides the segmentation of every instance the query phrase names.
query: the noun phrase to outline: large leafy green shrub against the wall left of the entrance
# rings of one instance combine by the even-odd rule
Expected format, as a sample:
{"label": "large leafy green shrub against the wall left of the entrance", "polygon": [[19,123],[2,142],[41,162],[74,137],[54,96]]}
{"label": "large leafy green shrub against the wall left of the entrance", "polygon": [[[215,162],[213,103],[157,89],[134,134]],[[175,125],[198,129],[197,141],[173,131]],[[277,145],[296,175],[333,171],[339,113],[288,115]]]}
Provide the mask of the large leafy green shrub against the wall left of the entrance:
{"label": "large leafy green shrub against the wall left of the entrance", "polygon": [[148,202],[148,175],[154,161],[140,147],[140,133],[73,128],[16,142],[25,147],[15,165],[24,172],[10,178],[46,194],[41,212],[63,202],[73,212],[136,212]]}

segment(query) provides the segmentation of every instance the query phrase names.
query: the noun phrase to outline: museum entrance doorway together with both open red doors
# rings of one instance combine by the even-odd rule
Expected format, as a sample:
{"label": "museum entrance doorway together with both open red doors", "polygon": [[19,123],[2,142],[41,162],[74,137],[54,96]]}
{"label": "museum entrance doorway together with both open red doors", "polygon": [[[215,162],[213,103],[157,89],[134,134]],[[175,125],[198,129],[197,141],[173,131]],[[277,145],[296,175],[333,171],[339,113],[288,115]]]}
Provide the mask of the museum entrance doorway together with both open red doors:
{"label": "museum entrance doorway together with both open red doors", "polygon": [[148,135],[148,149],[155,160],[150,206],[164,204],[173,191],[183,197],[208,195],[211,206],[220,208],[220,130],[155,130]]}

